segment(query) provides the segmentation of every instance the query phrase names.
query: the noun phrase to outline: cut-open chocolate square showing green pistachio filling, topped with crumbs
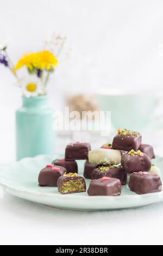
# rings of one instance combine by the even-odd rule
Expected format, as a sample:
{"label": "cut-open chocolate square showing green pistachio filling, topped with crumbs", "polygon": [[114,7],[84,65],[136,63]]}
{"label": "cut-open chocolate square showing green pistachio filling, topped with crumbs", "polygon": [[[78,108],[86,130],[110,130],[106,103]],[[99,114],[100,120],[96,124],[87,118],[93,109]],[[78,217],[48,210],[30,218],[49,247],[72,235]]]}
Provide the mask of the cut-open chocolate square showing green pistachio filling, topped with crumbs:
{"label": "cut-open chocolate square showing green pistachio filling, topped with crumbs", "polygon": [[57,181],[58,191],[61,194],[72,194],[86,191],[85,180],[77,173],[68,173],[60,176]]}

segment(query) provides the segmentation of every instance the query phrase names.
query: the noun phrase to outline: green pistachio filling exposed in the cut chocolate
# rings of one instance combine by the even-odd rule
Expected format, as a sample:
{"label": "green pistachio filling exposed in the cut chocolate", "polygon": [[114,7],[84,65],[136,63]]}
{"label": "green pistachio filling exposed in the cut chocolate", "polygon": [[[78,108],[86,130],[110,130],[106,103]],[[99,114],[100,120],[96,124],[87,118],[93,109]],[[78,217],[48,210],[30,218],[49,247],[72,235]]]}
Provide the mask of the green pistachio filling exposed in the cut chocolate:
{"label": "green pistachio filling exposed in the cut chocolate", "polygon": [[85,185],[82,179],[64,181],[61,186],[61,193],[66,194],[70,192],[85,192]]}

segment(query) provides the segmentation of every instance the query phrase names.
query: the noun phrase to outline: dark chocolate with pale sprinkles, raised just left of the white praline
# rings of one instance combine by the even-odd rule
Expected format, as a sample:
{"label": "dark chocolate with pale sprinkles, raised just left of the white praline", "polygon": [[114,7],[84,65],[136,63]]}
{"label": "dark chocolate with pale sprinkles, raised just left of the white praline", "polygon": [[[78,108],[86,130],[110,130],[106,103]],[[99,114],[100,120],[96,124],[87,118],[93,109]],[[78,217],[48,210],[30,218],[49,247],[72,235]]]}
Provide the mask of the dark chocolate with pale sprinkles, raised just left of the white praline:
{"label": "dark chocolate with pale sprinkles, raised just left of the white praline", "polygon": [[75,142],[68,144],[65,152],[66,160],[87,160],[91,145],[89,143]]}

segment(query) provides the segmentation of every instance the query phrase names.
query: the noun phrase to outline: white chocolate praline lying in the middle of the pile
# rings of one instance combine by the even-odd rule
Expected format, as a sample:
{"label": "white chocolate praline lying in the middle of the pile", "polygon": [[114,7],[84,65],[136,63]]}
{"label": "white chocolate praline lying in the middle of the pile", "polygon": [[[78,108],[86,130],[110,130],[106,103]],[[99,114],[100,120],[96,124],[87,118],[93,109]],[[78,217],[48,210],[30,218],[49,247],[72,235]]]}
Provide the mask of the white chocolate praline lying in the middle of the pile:
{"label": "white chocolate praline lying in the middle of the pile", "polygon": [[95,149],[89,151],[89,162],[97,164],[118,164],[121,163],[121,153],[115,149]]}

